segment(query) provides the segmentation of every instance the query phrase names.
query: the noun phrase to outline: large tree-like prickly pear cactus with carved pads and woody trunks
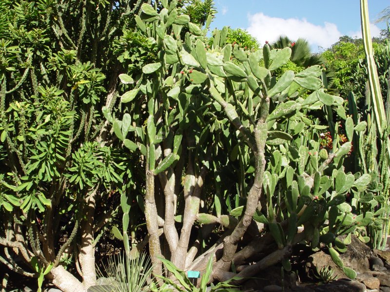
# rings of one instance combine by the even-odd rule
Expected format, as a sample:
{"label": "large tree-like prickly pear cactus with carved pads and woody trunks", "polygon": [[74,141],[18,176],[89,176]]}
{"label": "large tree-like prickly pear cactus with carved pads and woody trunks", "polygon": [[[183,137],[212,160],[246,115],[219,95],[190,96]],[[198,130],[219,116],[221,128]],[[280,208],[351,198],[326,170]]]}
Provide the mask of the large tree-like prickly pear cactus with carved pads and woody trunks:
{"label": "large tree-like prickly pear cactus with carved pads and woody trunks", "polygon": [[324,91],[320,67],[276,79],[289,47],[232,47],[225,44],[227,27],[215,30],[207,46],[211,18],[205,28],[192,23],[176,0],[143,4],[136,22],[155,44],[156,59],[120,75],[121,110],[105,112],[145,169],[155,274],[162,274],[161,257],[203,272],[213,256],[210,281],[253,276],[279,261],[290,270],[292,245],[305,240],[313,248],[325,243],[353,278],[337,252],[349,237],[337,236],[365,224],[345,196],[351,188],[363,191],[370,176],[344,172],[351,141],[336,140],[329,153],[320,149],[326,127],[307,114],[343,103]]}

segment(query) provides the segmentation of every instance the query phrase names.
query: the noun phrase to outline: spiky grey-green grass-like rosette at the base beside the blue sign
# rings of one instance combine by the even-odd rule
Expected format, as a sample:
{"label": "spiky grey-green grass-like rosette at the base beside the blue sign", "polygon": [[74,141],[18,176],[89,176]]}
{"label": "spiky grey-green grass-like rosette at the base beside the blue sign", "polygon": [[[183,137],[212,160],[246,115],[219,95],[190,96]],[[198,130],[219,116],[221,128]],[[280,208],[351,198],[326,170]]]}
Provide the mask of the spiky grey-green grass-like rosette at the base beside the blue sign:
{"label": "spiky grey-green grass-like rosette at the base beside the blue sign", "polygon": [[112,255],[104,269],[98,268],[98,275],[105,277],[103,285],[92,286],[88,292],[147,292],[147,279],[152,274],[149,257],[141,253],[128,256],[126,253]]}

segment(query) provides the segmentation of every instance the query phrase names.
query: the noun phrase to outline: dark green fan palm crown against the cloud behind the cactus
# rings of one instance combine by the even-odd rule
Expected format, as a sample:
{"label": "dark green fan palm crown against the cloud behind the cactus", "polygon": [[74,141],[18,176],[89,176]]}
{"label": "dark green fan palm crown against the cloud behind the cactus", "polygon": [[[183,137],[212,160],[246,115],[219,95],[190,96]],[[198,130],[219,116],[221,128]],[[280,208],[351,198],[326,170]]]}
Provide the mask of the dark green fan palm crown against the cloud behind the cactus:
{"label": "dark green fan palm crown against the cloud behind the cactus", "polygon": [[292,41],[290,38],[281,35],[271,44],[271,48],[273,49],[283,49],[286,47],[291,47],[291,60],[299,67],[308,68],[313,65],[324,64],[325,60],[321,55],[312,53],[309,42],[304,38],[300,37],[296,41]]}

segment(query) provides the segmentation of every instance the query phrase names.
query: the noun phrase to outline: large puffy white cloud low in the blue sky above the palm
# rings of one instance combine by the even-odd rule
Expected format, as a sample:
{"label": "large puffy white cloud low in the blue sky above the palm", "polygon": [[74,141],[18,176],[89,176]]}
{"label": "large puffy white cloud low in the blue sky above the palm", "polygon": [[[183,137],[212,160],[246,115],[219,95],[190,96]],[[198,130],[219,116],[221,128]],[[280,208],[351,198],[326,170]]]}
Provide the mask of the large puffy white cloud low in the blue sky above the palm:
{"label": "large puffy white cloud low in the blue sky above the palm", "polygon": [[292,40],[298,37],[306,38],[313,48],[321,46],[330,47],[338,41],[341,33],[334,23],[325,22],[324,25],[315,25],[305,18],[276,18],[256,13],[249,15],[248,32],[252,34],[260,44],[266,40],[273,42],[280,35],[285,35]]}

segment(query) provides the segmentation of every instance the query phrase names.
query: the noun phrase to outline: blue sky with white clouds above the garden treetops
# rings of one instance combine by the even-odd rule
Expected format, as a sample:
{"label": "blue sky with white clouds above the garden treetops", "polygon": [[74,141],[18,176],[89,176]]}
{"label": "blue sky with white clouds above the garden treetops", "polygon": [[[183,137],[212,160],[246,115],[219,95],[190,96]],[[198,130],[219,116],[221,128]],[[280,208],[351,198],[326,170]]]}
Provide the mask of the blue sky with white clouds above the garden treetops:
{"label": "blue sky with white clouds above the garden treetops", "polygon": [[[211,28],[225,25],[242,28],[261,44],[280,34],[291,39],[304,37],[313,51],[330,47],[338,37],[360,37],[359,0],[215,0],[218,13]],[[368,0],[370,21],[390,6],[389,0]],[[385,23],[371,24],[371,35],[379,34]]]}

